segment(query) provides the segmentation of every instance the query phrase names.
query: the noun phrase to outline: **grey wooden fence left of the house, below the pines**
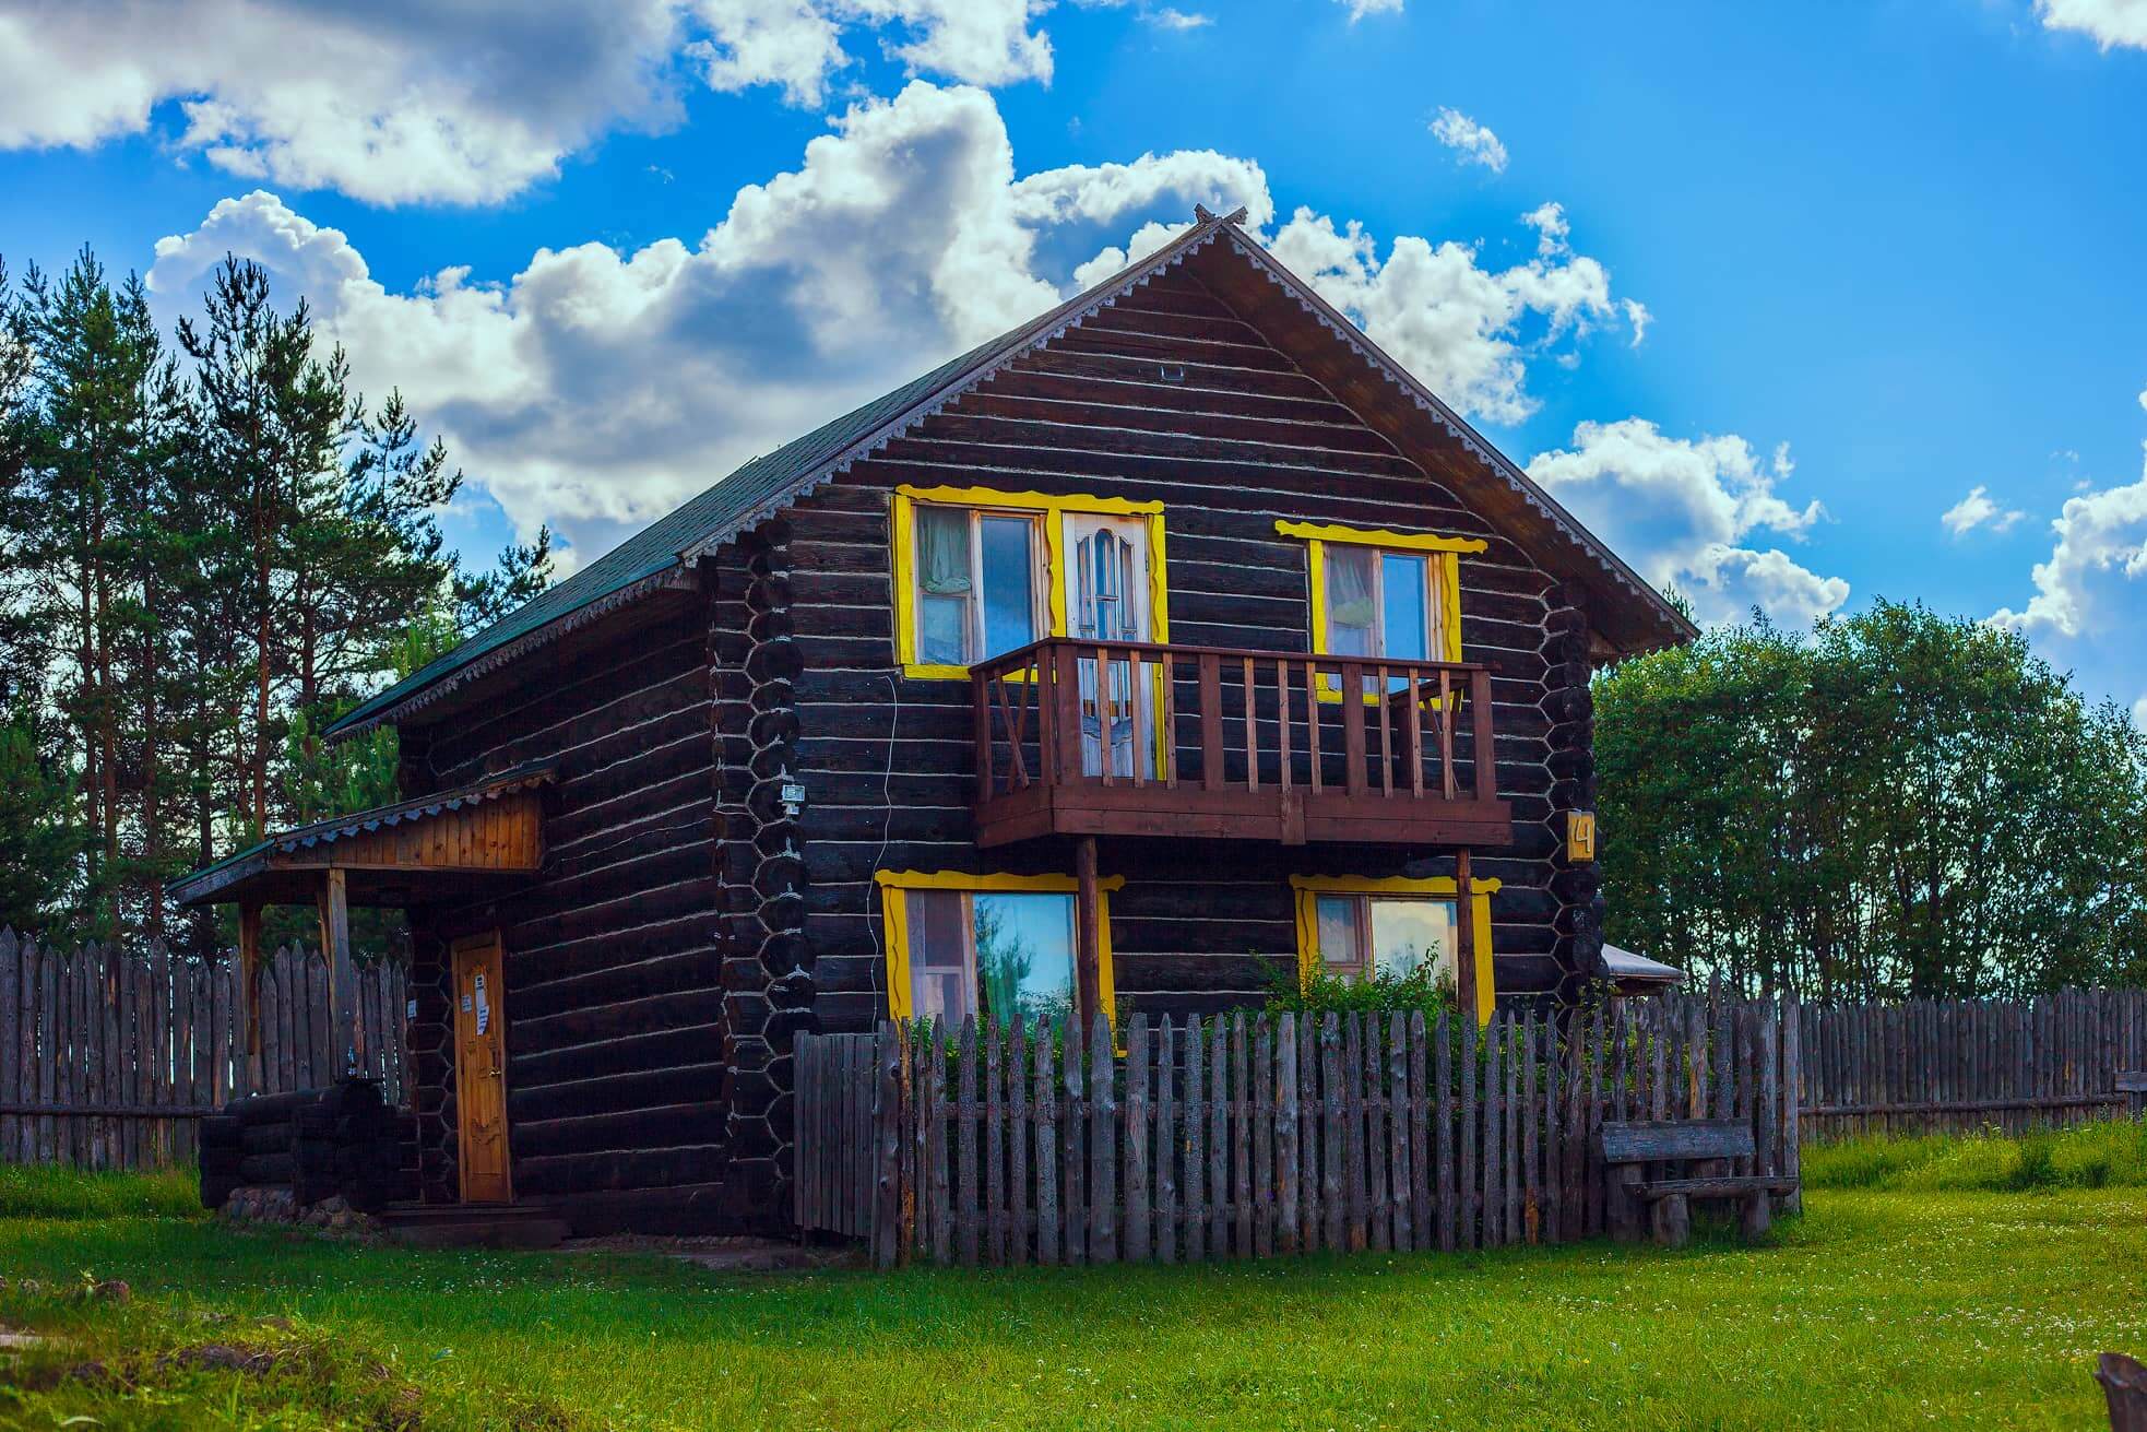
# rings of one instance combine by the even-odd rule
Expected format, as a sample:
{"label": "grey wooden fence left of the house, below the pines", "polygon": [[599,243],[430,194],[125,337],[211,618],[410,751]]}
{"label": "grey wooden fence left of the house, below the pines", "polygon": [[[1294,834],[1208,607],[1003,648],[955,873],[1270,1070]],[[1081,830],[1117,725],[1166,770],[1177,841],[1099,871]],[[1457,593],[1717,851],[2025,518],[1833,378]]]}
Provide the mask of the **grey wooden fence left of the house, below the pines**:
{"label": "grey wooden fence left of the house, below the pines", "polygon": [[[249,1073],[236,958],[41,947],[0,930],[0,1161],[165,1168],[195,1159],[195,1121],[249,1093],[341,1073],[318,951],[262,958],[262,1076]],[[406,1104],[399,964],[359,970],[367,1073]]]}

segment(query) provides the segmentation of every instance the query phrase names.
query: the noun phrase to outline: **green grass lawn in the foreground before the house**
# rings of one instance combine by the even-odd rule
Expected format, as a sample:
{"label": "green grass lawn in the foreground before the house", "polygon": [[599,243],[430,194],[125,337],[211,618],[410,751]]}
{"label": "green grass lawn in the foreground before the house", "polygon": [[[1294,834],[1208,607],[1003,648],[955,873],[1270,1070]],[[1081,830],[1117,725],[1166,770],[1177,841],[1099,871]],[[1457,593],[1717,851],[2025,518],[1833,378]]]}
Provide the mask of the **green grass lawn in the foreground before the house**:
{"label": "green grass lawn in the foreground before the house", "polygon": [[2100,1428],[2093,1355],[2147,1350],[2123,1187],[1821,1189],[1677,1254],[730,1277],[54,1207],[0,1217],[0,1323],[73,1344],[0,1372],[4,1428]]}

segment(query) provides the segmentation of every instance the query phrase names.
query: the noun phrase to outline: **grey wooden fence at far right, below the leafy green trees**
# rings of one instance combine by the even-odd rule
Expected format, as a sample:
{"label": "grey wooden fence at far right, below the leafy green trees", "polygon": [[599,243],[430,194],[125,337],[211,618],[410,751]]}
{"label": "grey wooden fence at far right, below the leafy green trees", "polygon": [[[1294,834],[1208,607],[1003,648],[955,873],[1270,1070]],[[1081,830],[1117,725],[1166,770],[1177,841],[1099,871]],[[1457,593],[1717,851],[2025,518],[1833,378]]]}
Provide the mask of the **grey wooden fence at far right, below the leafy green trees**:
{"label": "grey wooden fence at far right, below the leafy green trees", "polygon": [[1806,1005],[1799,1026],[1810,1140],[2108,1119],[2117,1076],[2147,1069],[2147,990]]}

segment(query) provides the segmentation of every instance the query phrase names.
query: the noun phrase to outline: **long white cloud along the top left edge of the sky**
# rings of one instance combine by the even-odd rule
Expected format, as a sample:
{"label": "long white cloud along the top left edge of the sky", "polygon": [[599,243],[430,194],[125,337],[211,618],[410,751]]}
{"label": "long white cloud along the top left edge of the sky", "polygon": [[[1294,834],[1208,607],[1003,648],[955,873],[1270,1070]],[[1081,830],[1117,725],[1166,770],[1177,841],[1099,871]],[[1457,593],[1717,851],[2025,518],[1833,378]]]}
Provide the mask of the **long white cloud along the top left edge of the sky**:
{"label": "long white cloud along the top left edge of the sky", "polygon": [[[496,204],[678,86],[818,105],[876,41],[912,73],[1050,79],[1028,0],[75,0],[0,13],[0,148],[94,146],[176,105],[178,152],[371,204]],[[1046,6],[1035,6],[1046,9]],[[852,39],[855,36],[855,39]]]}

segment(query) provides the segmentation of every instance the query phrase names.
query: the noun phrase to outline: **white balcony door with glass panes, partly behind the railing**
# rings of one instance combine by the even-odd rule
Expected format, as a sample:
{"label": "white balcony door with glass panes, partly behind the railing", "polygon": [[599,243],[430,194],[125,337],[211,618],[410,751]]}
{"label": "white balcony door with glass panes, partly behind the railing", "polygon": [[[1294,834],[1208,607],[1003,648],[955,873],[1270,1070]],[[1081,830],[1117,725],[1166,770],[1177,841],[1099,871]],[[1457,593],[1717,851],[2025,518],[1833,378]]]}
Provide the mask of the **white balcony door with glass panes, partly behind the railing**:
{"label": "white balcony door with glass panes, partly behind the railing", "polygon": [[[1140,517],[1067,513],[1071,610],[1069,635],[1099,642],[1153,640],[1149,612],[1149,526]],[[1155,681],[1138,678],[1131,661],[1080,657],[1082,775],[1155,775]],[[1159,668],[1149,666],[1149,672]]]}

